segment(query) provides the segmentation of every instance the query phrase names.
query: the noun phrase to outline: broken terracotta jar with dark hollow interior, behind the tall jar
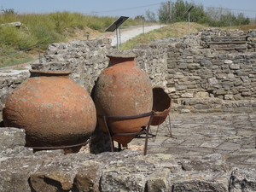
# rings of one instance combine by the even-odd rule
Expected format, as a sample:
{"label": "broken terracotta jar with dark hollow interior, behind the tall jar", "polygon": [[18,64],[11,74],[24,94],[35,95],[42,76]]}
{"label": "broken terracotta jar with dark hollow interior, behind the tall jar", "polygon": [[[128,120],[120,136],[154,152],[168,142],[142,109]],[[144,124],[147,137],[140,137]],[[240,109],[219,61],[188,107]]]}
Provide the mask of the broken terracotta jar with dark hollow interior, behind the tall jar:
{"label": "broken terracotta jar with dark hollow interior, behind the tall jar", "polygon": [[165,120],[172,108],[171,97],[161,87],[153,88],[153,111],[154,118],[151,125],[160,125]]}

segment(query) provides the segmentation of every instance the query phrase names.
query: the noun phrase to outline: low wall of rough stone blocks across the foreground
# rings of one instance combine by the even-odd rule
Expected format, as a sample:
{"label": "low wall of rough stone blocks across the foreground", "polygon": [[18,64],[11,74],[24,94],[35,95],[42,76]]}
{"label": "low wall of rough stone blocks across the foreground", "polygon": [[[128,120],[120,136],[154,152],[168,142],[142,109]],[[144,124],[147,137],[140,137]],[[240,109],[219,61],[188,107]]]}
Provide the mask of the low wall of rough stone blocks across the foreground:
{"label": "low wall of rough stone blocks across the foreground", "polygon": [[[229,166],[221,154],[178,159],[125,149],[119,153],[32,153],[25,131],[0,129],[2,192],[255,191],[255,169]],[[247,189],[247,190],[245,190]]]}

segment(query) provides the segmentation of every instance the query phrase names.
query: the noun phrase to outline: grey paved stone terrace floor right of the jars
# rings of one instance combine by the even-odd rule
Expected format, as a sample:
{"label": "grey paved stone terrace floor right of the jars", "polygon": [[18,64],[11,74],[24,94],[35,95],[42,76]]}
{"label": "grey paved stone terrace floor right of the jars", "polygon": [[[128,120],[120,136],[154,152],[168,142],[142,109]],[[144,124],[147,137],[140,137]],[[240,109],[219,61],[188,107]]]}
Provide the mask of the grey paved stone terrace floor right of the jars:
{"label": "grey paved stone terrace floor right of the jars", "polygon": [[[197,160],[201,163],[213,160],[213,164],[220,160],[230,168],[256,168],[256,113],[189,113],[170,117],[172,137],[166,137],[169,134],[166,119],[159,126],[155,141],[154,137],[148,139],[148,154],[172,154],[194,164]],[[157,126],[151,126],[152,134],[156,130]],[[143,145],[144,141],[135,138],[129,146]],[[201,168],[197,165],[193,169]]]}

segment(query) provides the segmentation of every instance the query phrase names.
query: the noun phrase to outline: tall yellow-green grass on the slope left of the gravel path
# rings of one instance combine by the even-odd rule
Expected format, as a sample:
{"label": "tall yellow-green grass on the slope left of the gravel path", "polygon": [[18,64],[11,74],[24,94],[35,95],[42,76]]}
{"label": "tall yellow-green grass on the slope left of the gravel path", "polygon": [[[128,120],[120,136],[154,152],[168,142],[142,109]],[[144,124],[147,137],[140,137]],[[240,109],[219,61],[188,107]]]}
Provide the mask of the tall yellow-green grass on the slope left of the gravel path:
{"label": "tall yellow-green grass on the slope left of the gravel path", "polygon": [[[52,44],[65,42],[74,37],[76,30],[90,28],[98,32],[113,23],[115,17],[99,17],[96,15],[82,15],[80,13],[55,12],[49,14],[0,14],[0,67],[20,64],[32,60],[31,50],[24,54],[17,54],[9,58],[5,56],[18,53],[20,50],[31,48],[37,44]],[[20,21],[22,26],[17,28],[10,25],[1,25]],[[140,20],[126,20],[122,27],[139,25]],[[85,36],[84,36],[85,37]],[[47,49],[47,46],[42,48]]]}

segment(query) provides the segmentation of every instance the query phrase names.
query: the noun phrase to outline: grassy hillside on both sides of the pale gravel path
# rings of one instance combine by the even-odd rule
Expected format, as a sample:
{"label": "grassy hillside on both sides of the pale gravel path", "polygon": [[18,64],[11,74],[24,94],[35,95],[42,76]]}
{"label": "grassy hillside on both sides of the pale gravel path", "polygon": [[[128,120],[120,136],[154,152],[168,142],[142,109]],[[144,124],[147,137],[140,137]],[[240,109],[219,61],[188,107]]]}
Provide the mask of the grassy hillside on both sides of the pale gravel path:
{"label": "grassy hillside on both sides of the pale gravel path", "polygon": [[[79,13],[56,12],[49,14],[0,15],[0,67],[15,66],[38,59],[48,44],[69,42],[73,39],[98,38],[105,34],[104,30],[117,18],[82,15]],[[20,21],[18,28],[8,23]],[[141,25],[142,20],[126,20],[123,28]],[[197,32],[208,26],[190,23],[189,32]],[[241,26],[247,30],[256,26]],[[235,28],[234,26],[232,28]],[[239,28],[239,27],[236,27]],[[148,44],[158,38],[183,37],[188,32],[188,23],[174,23],[160,29],[137,36],[121,44],[121,49],[131,49],[133,44]],[[11,55],[11,56],[10,56]]]}

